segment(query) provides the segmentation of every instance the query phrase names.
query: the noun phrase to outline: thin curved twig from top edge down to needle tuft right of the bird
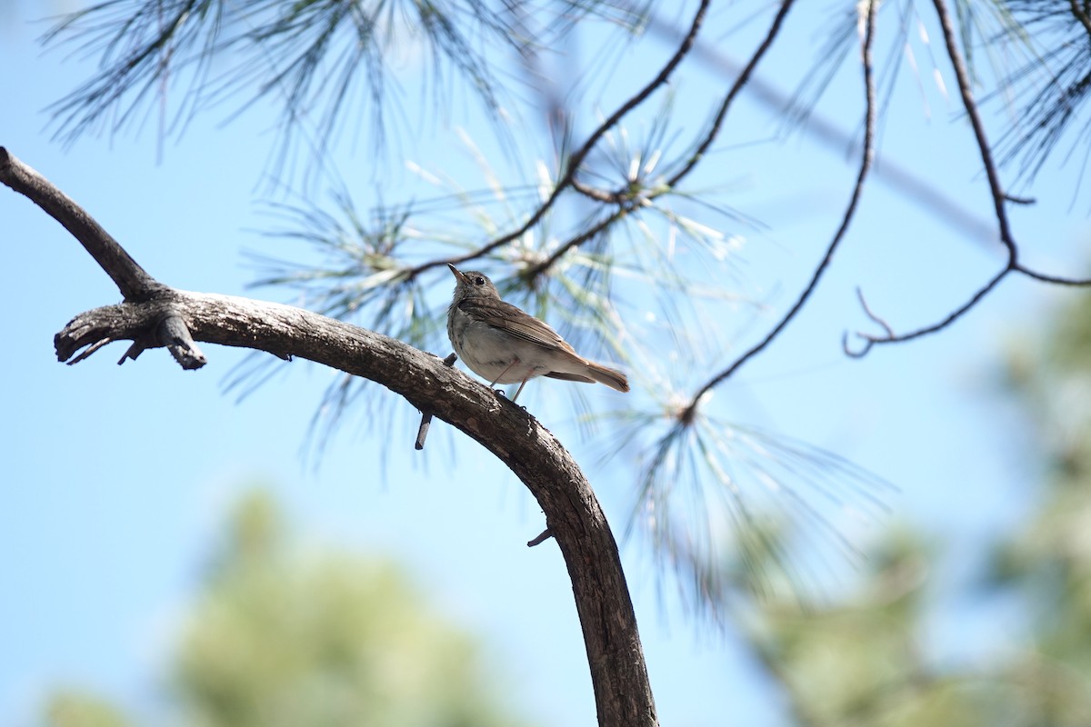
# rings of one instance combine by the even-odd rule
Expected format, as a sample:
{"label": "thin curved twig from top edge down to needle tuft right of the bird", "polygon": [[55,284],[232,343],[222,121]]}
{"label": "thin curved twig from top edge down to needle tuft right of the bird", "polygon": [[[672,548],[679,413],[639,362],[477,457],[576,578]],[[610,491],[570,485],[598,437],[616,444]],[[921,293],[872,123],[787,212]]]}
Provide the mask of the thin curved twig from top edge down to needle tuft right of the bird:
{"label": "thin curved twig from top edge down to needle tuft right of the bird", "polygon": [[[790,4],[790,0],[784,1],[784,7]],[[811,280],[807,282],[803,292],[796,299],[795,303],[788,313],[780,319],[776,326],[772,327],[764,339],[758,343],[748,349],[741,356],[735,359],[730,366],[718,373],[716,376],[710,378],[704,386],[697,389],[693,398],[690,399],[690,403],[686,404],[685,409],[679,415],[680,421],[692,420],[696,409],[697,403],[700,398],[715,387],[719,386],[721,383],[727,380],[731,375],[733,375],[739,368],[753,359],[755,355],[760,353],[769,343],[772,342],[780,332],[788,327],[788,324],[795,317],[795,315],[803,308],[803,305],[811,298],[811,293],[815,291],[818,286],[818,280],[822,278],[826,268],[829,267],[830,262],[834,259],[834,252],[837,250],[838,244],[844,238],[844,234],[849,231],[849,225],[852,222],[852,218],[856,214],[856,207],[860,204],[860,197],[864,191],[864,181],[867,179],[867,173],[872,168],[872,161],[874,159],[874,143],[875,143],[875,78],[872,71],[872,45],[875,37],[875,12],[876,12],[876,0],[870,0],[867,3],[867,17],[864,28],[864,37],[862,40],[861,52],[863,56],[862,65],[864,71],[864,99],[866,104],[866,109],[864,112],[864,143],[863,150],[860,159],[860,170],[856,172],[856,183],[852,187],[852,195],[849,197],[849,204],[844,208],[844,214],[841,216],[841,223],[834,234],[834,239],[830,240],[829,245],[826,247],[826,254],[823,256],[818,266],[815,268],[811,276]],[[783,11],[784,7],[781,8]],[[779,17],[779,16],[778,16]],[[779,21],[778,21],[779,22]]]}

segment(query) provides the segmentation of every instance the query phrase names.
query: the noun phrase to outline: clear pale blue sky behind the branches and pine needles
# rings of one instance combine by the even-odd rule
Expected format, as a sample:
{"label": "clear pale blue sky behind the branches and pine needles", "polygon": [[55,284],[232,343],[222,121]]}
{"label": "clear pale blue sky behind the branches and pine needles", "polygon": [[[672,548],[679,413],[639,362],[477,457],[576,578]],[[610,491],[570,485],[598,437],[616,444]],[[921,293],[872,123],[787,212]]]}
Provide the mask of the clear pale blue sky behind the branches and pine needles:
{"label": "clear pale blue sky behind the branches and pine needles", "polygon": [[[9,4],[0,14],[0,144],[83,205],[152,275],[189,289],[289,300],[250,291],[244,250],[273,250],[255,230],[267,226],[261,185],[275,134],[259,105],[230,123],[213,111],[157,160],[154,124],[113,140],[85,137],[65,148],[50,140],[43,109],[89,72],[63,51],[44,53],[35,37],[38,3]],[[710,19],[720,48],[748,47],[754,28],[729,32],[731,13]],[[763,21],[764,22],[764,21]],[[760,25],[760,24],[758,24]],[[822,23],[812,26],[822,28]],[[793,21],[795,44],[775,52],[766,78],[810,62],[820,31]],[[745,41],[744,41],[745,40]],[[591,44],[587,43],[586,47]],[[927,47],[913,41],[919,61]],[[649,43],[642,48],[663,46]],[[806,52],[799,49],[805,48]],[[741,53],[736,53],[736,58]],[[660,56],[624,58],[640,76]],[[922,61],[923,63],[923,61]],[[948,88],[946,63],[937,62]],[[971,137],[925,68],[918,85],[903,76],[883,130],[882,157],[914,169],[952,199],[987,219],[990,209]],[[794,76],[793,76],[794,77]],[[695,71],[680,80],[675,112],[699,126],[722,78]],[[711,85],[709,85],[711,84]],[[716,84],[720,84],[717,86]],[[853,85],[855,84],[855,85]],[[852,126],[859,82],[848,74],[824,112]],[[609,108],[611,94],[603,93]],[[410,98],[411,94],[406,94]],[[926,106],[925,106],[926,104]],[[409,106],[410,114],[427,109]],[[926,110],[927,109],[927,110]],[[455,126],[472,114],[432,120],[419,145],[392,150],[480,185],[480,170],[460,150]],[[746,102],[727,133],[740,144],[765,140],[772,114]],[[425,124],[427,125],[427,124]],[[693,126],[691,126],[693,128]],[[475,138],[484,131],[469,126]],[[763,219],[741,255],[745,318],[726,346],[740,350],[776,320],[836,227],[854,173],[841,150],[793,136],[781,154],[742,145],[706,165],[708,183],[738,185],[731,204]],[[783,149],[787,148],[787,153]],[[367,144],[346,145],[341,174],[358,202],[415,190],[400,160],[374,159]],[[880,161],[882,163],[882,161]],[[1077,274],[1087,237],[1083,209],[1071,209],[1075,172],[1036,190],[1040,204],[1014,211],[1028,262]],[[410,192],[411,193],[411,192]],[[309,192],[321,197],[319,187]],[[400,401],[393,425],[368,426],[369,411],[348,417],[321,463],[301,456],[308,423],[333,374],[304,362],[237,403],[224,393],[243,352],[207,347],[209,364],[181,372],[161,350],[117,366],[113,344],[76,366],[59,364],[52,336],[74,314],[116,302],[118,292],[79,244],[21,196],[0,191],[5,264],[0,289],[11,312],[8,353],[0,364],[4,413],[0,458],[5,505],[0,509],[0,719],[33,724],[41,698],[77,683],[147,706],[169,654],[178,619],[200,583],[213,540],[239,493],[271,487],[309,543],[375,552],[405,564],[429,598],[478,633],[492,674],[516,703],[544,725],[594,720],[590,680],[571,586],[549,545],[527,549],[542,526],[537,505],[506,470],[472,441],[433,427],[428,450],[412,450],[417,415]],[[934,643],[937,658],[981,658],[988,644],[1011,643],[1004,611],[968,618],[958,597],[981,546],[1018,522],[1033,482],[1019,445],[1018,420],[995,397],[991,376],[1006,344],[1027,340],[1056,291],[1012,279],[951,329],[911,344],[876,350],[863,361],[840,353],[846,329],[865,325],[854,288],[897,326],[930,323],[959,304],[999,265],[986,244],[967,241],[882,184],[864,207],[813,303],[732,386],[717,392],[733,421],[752,422],[843,455],[895,483],[891,517],[865,535],[882,536],[899,520],[934,538],[937,560]],[[449,276],[434,276],[436,300]],[[1032,339],[1030,339],[1032,340]],[[443,352],[445,353],[445,351]],[[528,386],[526,403],[587,470],[620,533],[631,507],[632,470],[594,465],[595,443],[580,443],[556,381]],[[597,387],[603,388],[603,387]],[[388,396],[385,392],[376,396]],[[612,391],[590,391],[591,407],[616,407]],[[399,409],[400,408],[400,409]],[[386,461],[380,470],[376,462]],[[866,542],[866,541],[865,541]],[[659,589],[644,544],[625,545],[652,687],[662,723],[711,727],[782,724],[776,692],[753,668],[736,634],[709,633],[686,619]],[[851,578],[849,579],[851,580]],[[671,585],[663,589],[670,594]],[[958,634],[955,638],[952,634]],[[564,700],[555,694],[563,693]]]}

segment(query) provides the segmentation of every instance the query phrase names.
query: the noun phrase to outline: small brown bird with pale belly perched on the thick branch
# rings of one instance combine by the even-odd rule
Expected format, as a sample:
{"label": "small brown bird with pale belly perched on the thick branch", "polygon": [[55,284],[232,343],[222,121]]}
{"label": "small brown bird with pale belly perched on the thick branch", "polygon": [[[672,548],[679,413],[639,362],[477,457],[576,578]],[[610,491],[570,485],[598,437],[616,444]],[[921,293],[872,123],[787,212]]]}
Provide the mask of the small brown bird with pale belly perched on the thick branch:
{"label": "small brown bird with pale belly perched on the thick branch", "polygon": [[584,359],[547,323],[501,300],[496,286],[483,272],[464,272],[449,263],[447,267],[456,281],[447,308],[447,337],[458,358],[491,381],[490,387],[517,381],[513,402],[536,376],[598,381],[628,391],[625,374]]}

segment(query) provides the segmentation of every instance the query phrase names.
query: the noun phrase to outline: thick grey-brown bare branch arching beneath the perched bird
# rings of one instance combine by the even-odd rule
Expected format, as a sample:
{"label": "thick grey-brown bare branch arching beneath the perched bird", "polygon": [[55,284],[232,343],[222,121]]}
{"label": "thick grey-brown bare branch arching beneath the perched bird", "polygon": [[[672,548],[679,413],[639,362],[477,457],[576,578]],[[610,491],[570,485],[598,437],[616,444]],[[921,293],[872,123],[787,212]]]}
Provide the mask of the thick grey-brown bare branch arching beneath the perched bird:
{"label": "thick grey-brown bare branch arching beneath the perched bird", "polygon": [[[41,206],[62,223],[82,220],[77,229],[91,239],[84,244],[95,259],[107,271],[119,269],[130,275],[132,280],[121,276],[125,284],[144,291],[142,300],[87,311],[69,322],[55,337],[60,361],[73,356],[74,361],[84,360],[119,340],[133,341],[127,353],[133,359],[146,348],[173,346],[179,349],[176,356],[201,356],[195,341],[266,351],[286,360],[298,356],[376,381],[469,435],[515,473],[546,513],[549,533],[572,579],[599,725],[658,725],[613,533],[579,467],[537,420],[439,358],[396,339],[289,305],[164,286],[144,274],[116,241],[47,180],[36,173],[28,177],[28,168],[7,153],[3,159],[4,181],[15,178],[10,186],[20,192],[33,187],[35,201],[63,198],[62,206]],[[100,245],[105,240],[113,249]],[[108,254],[96,255],[104,249]],[[119,265],[118,260],[128,264]],[[137,270],[145,279],[134,275]]]}

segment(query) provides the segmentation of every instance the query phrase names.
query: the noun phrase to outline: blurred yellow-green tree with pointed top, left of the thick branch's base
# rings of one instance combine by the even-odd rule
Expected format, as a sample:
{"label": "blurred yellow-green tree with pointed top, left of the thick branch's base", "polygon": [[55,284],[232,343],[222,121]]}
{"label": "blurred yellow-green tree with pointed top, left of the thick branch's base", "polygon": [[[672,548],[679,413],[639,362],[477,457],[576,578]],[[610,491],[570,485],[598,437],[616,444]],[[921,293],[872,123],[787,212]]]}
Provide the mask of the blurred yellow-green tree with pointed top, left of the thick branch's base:
{"label": "blurred yellow-green tree with pointed top, left of the thick branch's base", "polygon": [[[527,724],[483,676],[477,647],[392,564],[301,553],[269,496],[236,508],[181,630],[170,696],[200,727]],[[123,727],[81,692],[52,698],[55,727]]]}

